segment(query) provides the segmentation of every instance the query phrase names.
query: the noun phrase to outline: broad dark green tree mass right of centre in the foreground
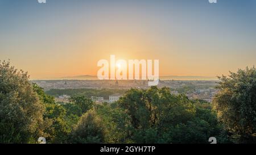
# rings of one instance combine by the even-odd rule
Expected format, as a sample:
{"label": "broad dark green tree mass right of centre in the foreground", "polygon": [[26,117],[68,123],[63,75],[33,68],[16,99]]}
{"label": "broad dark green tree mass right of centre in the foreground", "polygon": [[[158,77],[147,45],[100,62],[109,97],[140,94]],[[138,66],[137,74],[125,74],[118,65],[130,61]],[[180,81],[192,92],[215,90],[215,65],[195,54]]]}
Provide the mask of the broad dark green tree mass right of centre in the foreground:
{"label": "broad dark green tree mass right of centre in the foreground", "polygon": [[[208,143],[222,128],[209,103],[173,95],[167,87],[131,89],[118,101],[130,116],[134,143]],[[205,108],[206,107],[206,108]]]}

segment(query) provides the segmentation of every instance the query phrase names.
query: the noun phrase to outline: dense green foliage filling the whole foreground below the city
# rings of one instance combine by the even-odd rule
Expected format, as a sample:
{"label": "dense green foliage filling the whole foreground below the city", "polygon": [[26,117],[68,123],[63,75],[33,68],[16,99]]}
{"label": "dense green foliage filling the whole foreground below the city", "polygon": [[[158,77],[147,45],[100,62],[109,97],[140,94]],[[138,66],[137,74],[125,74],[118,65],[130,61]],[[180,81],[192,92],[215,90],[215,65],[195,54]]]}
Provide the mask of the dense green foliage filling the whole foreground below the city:
{"label": "dense green foliage filling the whole foreground below the city", "polygon": [[130,89],[112,104],[90,100],[98,90],[73,93],[69,103],[56,103],[4,61],[0,143],[37,143],[40,136],[47,143],[209,143],[209,137],[218,143],[255,143],[255,69],[221,77],[218,89],[214,109],[212,103],[174,95],[167,87]]}

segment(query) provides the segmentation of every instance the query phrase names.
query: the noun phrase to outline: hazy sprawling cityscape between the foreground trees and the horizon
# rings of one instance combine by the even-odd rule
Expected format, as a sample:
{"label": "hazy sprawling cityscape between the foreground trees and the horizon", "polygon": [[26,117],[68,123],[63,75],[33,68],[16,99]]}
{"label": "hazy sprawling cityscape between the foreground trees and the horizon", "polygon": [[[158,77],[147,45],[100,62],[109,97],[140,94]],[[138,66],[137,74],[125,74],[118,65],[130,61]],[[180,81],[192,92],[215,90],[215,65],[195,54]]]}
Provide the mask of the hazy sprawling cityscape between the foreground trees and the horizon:
{"label": "hazy sprawling cityscape between the foreground trees and the horizon", "polygon": [[[147,81],[143,80],[34,80],[32,81],[43,87],[44,90],[51,89],[122,89],[130,88],[148,89]],[[218,81],[178,81],[178,80],[160,80],[158,87],[168,87],[172,94],[185,94],[189,99],[201,99],[212,102],[217,89],[215,86]],[[119,99],[122,94],[112,94]],[[98,103],[113,103],[109,98],[91,97]],[[57,101],[68,102],[66,94],[56,97]],[[117,101],[117,100],[114,100]]]}

